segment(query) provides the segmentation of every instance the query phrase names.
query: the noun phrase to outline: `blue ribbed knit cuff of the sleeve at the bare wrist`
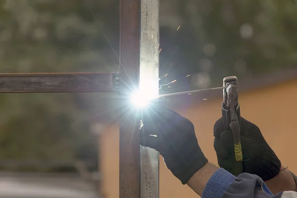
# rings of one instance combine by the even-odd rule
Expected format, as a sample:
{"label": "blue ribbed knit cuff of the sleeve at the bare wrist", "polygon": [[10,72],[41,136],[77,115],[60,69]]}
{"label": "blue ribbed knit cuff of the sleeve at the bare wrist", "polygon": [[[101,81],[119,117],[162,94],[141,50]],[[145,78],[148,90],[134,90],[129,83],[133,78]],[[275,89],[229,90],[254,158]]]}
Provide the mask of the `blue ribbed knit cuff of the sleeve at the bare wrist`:
{"label": "blue ribbed knit cuff of the sleeve at the bare wrist", "polygon": [[236,177],[223,168],[219,168],[208,180],[201,198],[222,198]]}

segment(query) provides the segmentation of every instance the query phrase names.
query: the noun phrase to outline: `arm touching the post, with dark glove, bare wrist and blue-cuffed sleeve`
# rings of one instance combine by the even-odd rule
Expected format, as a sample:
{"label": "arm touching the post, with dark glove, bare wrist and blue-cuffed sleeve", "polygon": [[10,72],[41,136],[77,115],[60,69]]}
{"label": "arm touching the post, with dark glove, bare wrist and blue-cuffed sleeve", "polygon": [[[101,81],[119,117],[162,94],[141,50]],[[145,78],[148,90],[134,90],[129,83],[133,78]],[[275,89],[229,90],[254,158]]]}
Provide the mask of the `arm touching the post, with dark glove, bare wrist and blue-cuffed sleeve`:
{"label": "arm touching the post, with dark glove, bare wrist and blue-cuffed sleeve", "polygon": [[140,144],[158,150],[167,168],[202,198],[272,198],[258,176],[235,177],[207,162],[190,120],[160,107],[143,111],[141,119]]}

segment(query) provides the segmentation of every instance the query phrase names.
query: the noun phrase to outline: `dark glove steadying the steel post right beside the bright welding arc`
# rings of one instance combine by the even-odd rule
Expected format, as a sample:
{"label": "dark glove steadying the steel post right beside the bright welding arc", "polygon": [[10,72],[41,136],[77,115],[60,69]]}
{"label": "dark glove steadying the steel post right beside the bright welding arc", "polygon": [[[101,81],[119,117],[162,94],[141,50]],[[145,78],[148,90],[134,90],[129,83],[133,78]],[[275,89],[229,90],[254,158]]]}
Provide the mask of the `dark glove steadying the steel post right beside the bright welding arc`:
{"label": "dark glove steadying the steel post right beside the bright welding arc", "polygon": [[159,151],[167,168],[186,184],[207,162],[198,145],[193,123],[162,107],[143,111],[141,119],[144,126],[140,131],[140,144]]}

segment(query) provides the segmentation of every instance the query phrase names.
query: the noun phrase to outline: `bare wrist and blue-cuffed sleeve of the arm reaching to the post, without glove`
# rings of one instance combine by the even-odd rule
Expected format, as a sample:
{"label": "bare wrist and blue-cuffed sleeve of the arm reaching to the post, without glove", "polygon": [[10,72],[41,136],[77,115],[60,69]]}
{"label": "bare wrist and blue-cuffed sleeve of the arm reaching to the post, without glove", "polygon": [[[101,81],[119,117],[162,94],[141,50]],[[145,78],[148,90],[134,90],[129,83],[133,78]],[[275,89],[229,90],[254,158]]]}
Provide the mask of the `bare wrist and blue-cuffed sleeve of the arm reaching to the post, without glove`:
{"label": "bare wrist and blue-cuffed sleeve of the arm reaching to the post, without glove", "polygon": [[187,184],[201,198],[297,198],[294,191],[273,196],[260,177],[248,173],[235,177],[210,163],[198,170]]}

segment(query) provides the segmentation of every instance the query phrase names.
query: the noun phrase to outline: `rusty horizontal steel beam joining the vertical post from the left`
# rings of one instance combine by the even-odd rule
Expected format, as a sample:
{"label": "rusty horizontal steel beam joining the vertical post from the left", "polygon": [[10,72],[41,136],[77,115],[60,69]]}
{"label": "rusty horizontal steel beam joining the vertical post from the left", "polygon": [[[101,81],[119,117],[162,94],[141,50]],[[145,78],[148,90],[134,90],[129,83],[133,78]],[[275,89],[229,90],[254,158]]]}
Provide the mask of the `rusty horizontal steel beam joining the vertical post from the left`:
{"label": "rusty horizontal steel beam joining the vertical post from the left", "polygon": [[0,74],[0,93],[116,92],[115,73]]}

